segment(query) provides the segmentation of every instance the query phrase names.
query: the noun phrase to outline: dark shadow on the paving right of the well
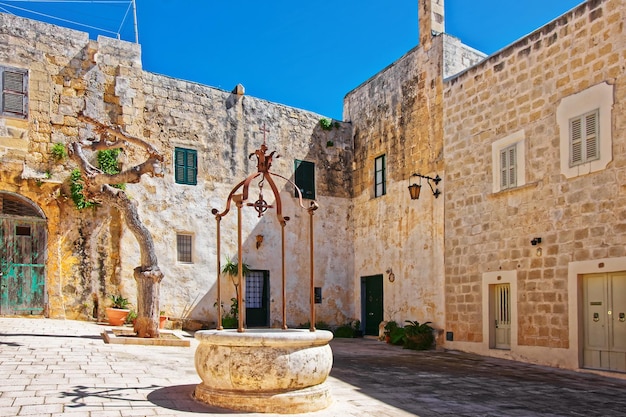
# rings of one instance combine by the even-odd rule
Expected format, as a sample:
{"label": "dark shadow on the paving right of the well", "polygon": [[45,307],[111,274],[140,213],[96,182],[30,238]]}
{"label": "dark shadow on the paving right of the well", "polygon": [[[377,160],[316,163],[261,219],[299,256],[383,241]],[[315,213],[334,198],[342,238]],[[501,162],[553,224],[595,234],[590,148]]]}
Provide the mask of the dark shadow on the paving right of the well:
{"label": "dark shadow on the paving right of the well", "polygon": [[370,339],[331,347],[332,377],[420,417],[626,415],[625,380]]}

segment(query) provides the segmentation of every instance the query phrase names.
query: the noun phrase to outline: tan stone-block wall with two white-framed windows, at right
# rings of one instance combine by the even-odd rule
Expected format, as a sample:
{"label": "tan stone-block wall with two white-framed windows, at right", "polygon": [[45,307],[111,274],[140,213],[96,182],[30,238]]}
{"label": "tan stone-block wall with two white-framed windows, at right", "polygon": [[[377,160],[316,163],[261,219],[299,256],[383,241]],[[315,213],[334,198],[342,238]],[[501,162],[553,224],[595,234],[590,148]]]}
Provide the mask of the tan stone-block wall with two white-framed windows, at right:
{"label": "tan stone-block wall with two white-framed windows, at right", "polygon": [[[511,355],[564,365],[558,349],[569,349],[577,360],[578,329],[570,323],[578,320],[578,296],[568,290],[568,267],[626,255],[625,10],[622,0],[586,2],[445,83],[445,300],[453,347],[486,352],[484,280],[512,274]],[[568,179],[557,109],[603,84],[613,91],[613,159]],[[494,191],[492,145],[515,135],[525,152],[523,185]],[[540,245],[531,244],[535,237]],[[531,347],[548,350],[529,355]]]}

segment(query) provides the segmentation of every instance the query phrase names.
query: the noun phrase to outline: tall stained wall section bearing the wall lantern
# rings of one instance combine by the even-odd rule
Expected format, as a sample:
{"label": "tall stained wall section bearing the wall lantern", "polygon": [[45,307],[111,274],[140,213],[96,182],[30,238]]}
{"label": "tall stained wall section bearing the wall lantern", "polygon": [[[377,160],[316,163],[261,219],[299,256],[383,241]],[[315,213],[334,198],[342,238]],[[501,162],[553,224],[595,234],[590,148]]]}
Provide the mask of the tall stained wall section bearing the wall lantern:
{"label": "tall stained wall section bearing the wall lantern", "polygon": [[[407,186],[412,173],[442,175],[442,48],[440,36],[428,50],[413,49],[344,100],[354,129],[355,281],[383,274],[385,320],[437,327],[443,326],[443,199],[424,184],[420,200],[412,201]],[[383,154],[387,191],[375,197],[374,159]]]}

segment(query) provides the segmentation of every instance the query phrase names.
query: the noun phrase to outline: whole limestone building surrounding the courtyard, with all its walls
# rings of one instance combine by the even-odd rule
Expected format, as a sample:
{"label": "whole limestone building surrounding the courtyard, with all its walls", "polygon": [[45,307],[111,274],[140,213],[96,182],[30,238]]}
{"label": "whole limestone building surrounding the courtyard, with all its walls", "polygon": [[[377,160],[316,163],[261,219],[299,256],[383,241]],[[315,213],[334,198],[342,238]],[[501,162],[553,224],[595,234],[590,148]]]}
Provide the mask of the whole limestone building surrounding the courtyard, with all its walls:
{"label": "whole limestone building surrounding the courtyard, with all its walls", "polygon": [[[432,321],[446,348],[626,371],[626,3],[581,3],[488,57],[445,33],[443,0],[418,3],[418,46],[350,91],[330,130],[241,89],[147,73],[138,45],[0,15],[5,96],[21,88],[0,117],[0,237],[13,248],[2,279],[27,268],[33,289],[30,304],[3,293],[0,313],[88,318],[110,294],[134,296],[137,248],[120,214],[77,210],[71,163],[54,157],[92,133],[86,112],[165,155],[165,177],[128,192],[155,236],[164,309],[214,321],[211,209],[254,169],[265,125],[285,156],[276,171],[320,204],[320,320],[359,319],[372,335],[382,320]],[[306,227],[293,187],[281,193],[295,325],[307,319]],[[248,212],[245,224],[250,285],[265,288],[249,313],[276,325],[275,220]],[[227,232],[231,256],[235,240]]]}

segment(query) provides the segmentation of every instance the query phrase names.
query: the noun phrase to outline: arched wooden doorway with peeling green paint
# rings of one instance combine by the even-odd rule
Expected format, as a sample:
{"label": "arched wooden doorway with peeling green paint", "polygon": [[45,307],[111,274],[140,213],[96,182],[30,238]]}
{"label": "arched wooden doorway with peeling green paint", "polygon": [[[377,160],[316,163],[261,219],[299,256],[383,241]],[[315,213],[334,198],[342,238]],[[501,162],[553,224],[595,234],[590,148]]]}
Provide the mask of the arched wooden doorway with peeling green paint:
{"label": "arched wooden doorway with peeling green paint", "polygon": [[46,218],[32,201],[0,192],[0,315],[42,314]]}

